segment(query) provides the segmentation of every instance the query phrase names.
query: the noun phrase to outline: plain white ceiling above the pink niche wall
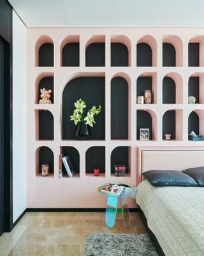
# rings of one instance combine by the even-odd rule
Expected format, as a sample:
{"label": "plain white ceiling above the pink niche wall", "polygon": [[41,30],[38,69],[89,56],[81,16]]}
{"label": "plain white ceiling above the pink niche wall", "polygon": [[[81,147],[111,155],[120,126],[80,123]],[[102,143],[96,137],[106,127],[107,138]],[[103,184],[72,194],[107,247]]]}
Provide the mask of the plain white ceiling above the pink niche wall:
{"label": "plain white ceiling above the pink niche wall", "polygon": [[204,0],[8,0],[27,27],[204,28]]}

